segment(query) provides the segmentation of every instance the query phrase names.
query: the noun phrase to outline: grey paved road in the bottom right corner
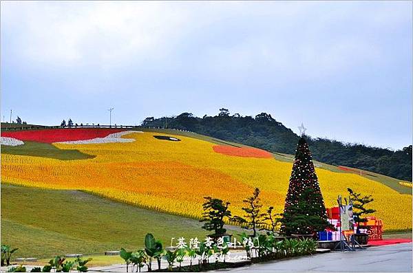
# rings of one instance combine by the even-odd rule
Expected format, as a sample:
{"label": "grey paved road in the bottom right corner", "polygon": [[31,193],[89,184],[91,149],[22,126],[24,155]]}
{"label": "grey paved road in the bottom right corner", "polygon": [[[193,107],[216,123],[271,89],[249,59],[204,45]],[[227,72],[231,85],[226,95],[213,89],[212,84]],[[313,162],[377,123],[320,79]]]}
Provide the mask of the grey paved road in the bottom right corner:
{"label": "grey paved road in the bottom right corner", "polygon": [[412,272],[412,243],[255,263],[230,272]]}

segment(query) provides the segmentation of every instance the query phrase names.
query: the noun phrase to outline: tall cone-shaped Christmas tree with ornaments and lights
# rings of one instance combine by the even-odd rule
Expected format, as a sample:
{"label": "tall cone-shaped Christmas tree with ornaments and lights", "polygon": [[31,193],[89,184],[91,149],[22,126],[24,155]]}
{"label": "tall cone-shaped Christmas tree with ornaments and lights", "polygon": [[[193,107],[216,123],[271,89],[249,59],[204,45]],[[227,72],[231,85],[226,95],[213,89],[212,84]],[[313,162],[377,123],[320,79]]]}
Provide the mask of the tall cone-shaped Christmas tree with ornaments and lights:
{"label": "tall cone-shaped Christmas tree with ornaments and lights", "polygon": [[315,234],[330,227],[304,136],[298,141],[281,223],[281,232],[287,235]]}

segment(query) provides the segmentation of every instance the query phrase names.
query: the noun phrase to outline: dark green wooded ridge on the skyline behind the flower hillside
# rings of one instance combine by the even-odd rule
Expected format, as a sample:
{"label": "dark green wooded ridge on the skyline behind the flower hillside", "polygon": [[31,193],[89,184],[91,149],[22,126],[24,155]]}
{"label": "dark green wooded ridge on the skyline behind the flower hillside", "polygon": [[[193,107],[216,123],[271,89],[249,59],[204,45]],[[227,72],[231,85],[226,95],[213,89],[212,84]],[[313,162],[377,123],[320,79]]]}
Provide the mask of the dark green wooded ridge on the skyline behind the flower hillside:
{"label": "dark green wooded ridge on the skyline behind the flower hillside", "polygon": [[[146,118],[144,127],[165,126],[164,118]],[[168,118],[168,127],[189,130],[222,140],[254,146],[276,153],[294,153],[299,139],[291,129],[277,122],[268,113],[251,116],[230,116],[228,109],[220,109],[217,116],[198,118],[182,113]],[[348,144],[326,138],[308,138],[315,160],[332,165],[361,168],[397,179],[412,181],[412,145],[401,151],[390,151],[363,144]]]}

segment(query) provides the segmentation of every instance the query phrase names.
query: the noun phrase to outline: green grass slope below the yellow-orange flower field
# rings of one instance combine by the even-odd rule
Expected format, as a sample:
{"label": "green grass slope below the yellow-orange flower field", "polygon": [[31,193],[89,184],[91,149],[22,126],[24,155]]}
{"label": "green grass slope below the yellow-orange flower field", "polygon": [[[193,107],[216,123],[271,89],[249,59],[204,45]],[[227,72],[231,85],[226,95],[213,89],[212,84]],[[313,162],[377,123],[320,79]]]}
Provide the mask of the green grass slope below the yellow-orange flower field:
{"label": "green grass slope below the yellow-orange flower field", "polygon": [[[103,254],[143,246],[147,232],[165,245],[171,238],[207,232],[194,219],[117,203],[76,190],[43,190],[1,184],[1,243],[16,255],[48,258],[56,254]],[[237,234],[238,228],[230,228]],[[176,240],[175,240],[176,241]]]}

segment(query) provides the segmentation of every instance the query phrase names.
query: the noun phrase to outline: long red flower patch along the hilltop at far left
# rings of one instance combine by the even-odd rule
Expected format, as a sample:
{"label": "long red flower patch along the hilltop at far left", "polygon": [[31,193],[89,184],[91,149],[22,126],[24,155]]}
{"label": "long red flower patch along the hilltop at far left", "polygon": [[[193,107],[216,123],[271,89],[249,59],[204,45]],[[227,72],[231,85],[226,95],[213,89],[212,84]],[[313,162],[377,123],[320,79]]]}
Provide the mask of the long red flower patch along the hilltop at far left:
{"label": "long red flower patch along the hilltop at far left", "polygon": [[61,141],[91,140],[92,138],[105,138],[111,133],[118,133],[125,129],[96,129],[96,128],[67,128],[67,129],[41,129],[27,131],[1,132],[1,136],[43,143]]}

